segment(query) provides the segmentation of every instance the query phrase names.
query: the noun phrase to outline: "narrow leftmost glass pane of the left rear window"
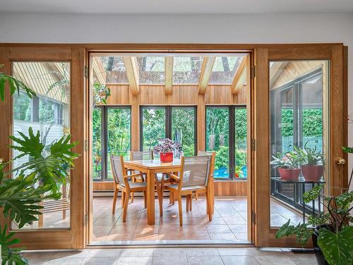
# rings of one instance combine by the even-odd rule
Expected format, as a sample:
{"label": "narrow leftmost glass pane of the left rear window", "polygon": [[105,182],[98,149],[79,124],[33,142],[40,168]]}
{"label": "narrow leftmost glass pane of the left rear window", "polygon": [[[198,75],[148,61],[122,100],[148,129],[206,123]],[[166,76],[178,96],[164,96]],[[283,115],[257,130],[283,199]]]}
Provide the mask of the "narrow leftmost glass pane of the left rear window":
{"label": "narrow leftmost glass pane of the left rear window", "polygon": [[93,179],[102,179],[102,108],[93,109]]}

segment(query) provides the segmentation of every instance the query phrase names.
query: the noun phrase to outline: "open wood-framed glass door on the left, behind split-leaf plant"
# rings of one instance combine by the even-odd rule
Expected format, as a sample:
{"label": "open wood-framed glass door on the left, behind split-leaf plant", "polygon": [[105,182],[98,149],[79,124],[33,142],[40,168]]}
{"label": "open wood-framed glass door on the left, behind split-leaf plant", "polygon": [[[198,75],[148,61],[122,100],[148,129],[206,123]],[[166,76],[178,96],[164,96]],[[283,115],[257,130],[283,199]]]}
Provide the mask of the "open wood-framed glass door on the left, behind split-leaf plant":
{"label": "open wood-framed glass door on the left, behind split-leaf plant", "polygon": [[[25,93],[16,93],[11,98],[7,94],[5,101],[0,103],[6,120],[0,135],[2,143],[6,146],[14,144],[8,136],[28,136],[32,129],[34,134],[39,132],[44,155],[49,155],[52,143],[65,135],[71,134],[72,141],[84,139],[83,91],[77,91],[80,90],[78,84],[82,82],[83,75],[78,71],[77,52],[77,49],[72,51],[70,47],[62,48],[60,52],[54,48],[40,47],[5,49],[0,57],[1,63],[5,65],[4,71],[25,83],[37,95],[29,98]],[[80,63],[83,64],[83,61]],[[76,110],[73,110],[73,105]],[[75,121],[75,124],[71,121]],[[16,237],[20,238],[27,249],[84,247],[81,232],[84,225],[83,178],[80,178],[84,152],[83,143],[80,142],[73,150],[81,155],[74,161],[76,169],[67,169],[66,184],[56,184],[61,198],[41,202],[42,215],[32,224],[23,228],[18,228],[16,222],[8,225],[9,230],[16,232]],[[0,152],[1,158],[6,161],[21,154],[17,150],[11,153],[5,146]],[[10,163],[11,168],[32,159],[28,155],[17,158]],[[18,175],[19,172],[13,172],[11,177],[16,178]],[[71,204],[71,201],[76,204]],[[4,225],[9,221],[2,220],[1,223]]]}

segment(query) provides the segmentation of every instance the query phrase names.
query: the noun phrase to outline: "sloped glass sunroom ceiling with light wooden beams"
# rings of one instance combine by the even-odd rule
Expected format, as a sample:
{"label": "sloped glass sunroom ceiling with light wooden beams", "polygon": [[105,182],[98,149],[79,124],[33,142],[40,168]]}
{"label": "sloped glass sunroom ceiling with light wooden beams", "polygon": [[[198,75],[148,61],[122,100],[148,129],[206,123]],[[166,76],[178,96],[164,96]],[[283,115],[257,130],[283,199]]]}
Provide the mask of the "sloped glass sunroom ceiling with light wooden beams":
{"label": "sloped glass sunroom ceiling with light wooden beams", "polygon": [[[198,85],[204,93],[208,85],[235,86],[245,82],[246,54],[219,56],[143,56],[119,55],[92,57],[93,82],[104,84],[139,85]],[[132,80],[133,79],[133,80]],[[238,85],[239,86],[239,85]]]}

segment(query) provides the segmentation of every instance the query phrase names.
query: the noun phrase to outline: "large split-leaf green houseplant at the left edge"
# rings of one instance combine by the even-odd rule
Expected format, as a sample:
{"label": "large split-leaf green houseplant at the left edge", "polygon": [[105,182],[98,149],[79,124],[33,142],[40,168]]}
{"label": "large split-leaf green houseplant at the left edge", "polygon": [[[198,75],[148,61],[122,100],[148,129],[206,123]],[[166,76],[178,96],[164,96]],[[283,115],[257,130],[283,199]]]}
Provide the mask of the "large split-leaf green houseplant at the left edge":
{"label": "large split-leaf green houseplant at the left edge", "polygon": [[[1,66],[0,66],[1,67]],[[10,95],[24,90],[31,98],[35,91],[25,83],[12,76],[0,73],[0,98],[4,102],[6,83],[10,88]],[[45,145],[45,136],[40,131],[35,134],[30,127],[28,135],[18,132],[19,137],[10,136],[13,145],[9,148],[20,154],[7,163],[0,163],[0,207],[5,218],[15,222],[18,228],[32,224],[42,214],[40,202],[46,199],[60,199],[61,194],[57,185],[66,182],[68,168],[73,167],[73,160],[78,158],[71,148],[78,142],[70,143],[71,136],[65,135],[61,139]],[[28,155],[30,160],[13,170],[6,171],[6,167],[14,160]],[[16,173],[15,178],[11,175]],[[20,251],[15,247],[20,240],[13,238],[15,232],[8,232],[7,225],[0,225],[0,245],[2,264],[28,264]]]}

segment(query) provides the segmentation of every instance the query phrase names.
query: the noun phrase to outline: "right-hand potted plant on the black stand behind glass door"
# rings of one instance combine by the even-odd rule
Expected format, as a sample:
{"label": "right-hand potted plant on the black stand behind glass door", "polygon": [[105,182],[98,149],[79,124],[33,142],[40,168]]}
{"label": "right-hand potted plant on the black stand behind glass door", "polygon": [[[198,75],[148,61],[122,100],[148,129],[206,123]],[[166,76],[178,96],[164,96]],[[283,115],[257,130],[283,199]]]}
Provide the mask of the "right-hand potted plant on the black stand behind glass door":
{"label": "right-hand potted plant on the black stand behind glass door", "polygon": [[309,141],[304,148],[294,147],[295,153],[299,155],[301,161],[301,174],[306,181],[317,182],[323,176],[323,154],[314,148],[308,147]]}

